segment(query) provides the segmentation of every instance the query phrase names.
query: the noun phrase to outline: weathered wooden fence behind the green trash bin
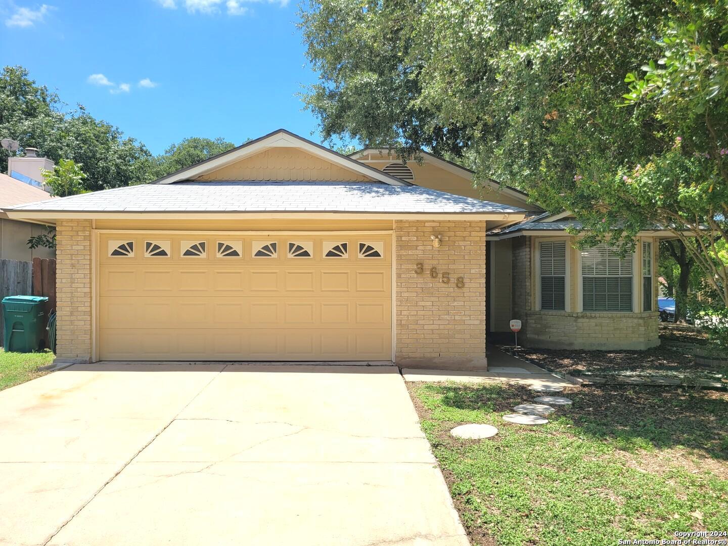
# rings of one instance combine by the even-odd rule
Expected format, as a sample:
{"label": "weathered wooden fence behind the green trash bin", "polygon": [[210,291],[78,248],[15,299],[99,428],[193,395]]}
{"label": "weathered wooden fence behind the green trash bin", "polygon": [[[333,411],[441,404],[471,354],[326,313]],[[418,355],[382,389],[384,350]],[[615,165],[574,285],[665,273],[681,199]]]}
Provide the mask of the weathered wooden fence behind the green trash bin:
{"label": "weathered wooden fence behind the green trash bin", "polygon": [[[0,260],[0,300],[5,296],[47,296],[45,316],[48,317],[55,309],[55,260]],[[3,332],[4,322],[0,312],[0,345],[4,341]],[[47,333],[44,339],[48,347]]]}

